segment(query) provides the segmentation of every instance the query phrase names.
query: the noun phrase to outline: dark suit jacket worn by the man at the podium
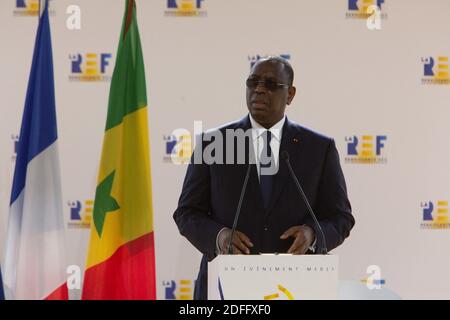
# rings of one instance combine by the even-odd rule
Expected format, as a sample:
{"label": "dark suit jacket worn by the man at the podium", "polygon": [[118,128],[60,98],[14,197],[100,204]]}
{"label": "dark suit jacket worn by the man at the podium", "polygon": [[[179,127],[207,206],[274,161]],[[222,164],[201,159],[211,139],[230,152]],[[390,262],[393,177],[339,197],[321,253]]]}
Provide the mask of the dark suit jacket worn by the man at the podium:
{"label": "dark suit jacket worn by the man at the podium", "polygon": [[[227,129],[250,128],[250,119],[246,116],[217,130],[225,137]],[[200,148],[197,150],[203,150],[207,145],[197,142],[197,148]],[[251,142],[247,144],[247,152],[253,150],[249,148],[253,148]],[[289,152],[293,170],[325,233],[327,249],[337,247],[348,237],[355,220],[333,139],[286,119],[280,154],[283,150]],[[233,225],[247,168],[245,163],[208,165],[191,162],[187,169],[174,219],[180,233],[203,253],[195,284],[195,299],[207,298],[207,263],[216,257],[218,232]],[[237,224],[237,230],[245,233],[254,244],[251,253],[286,252],[293,238],[281,240],[281,234],[292,226],[302,224],[316,231],[317,248],[320,248],[316,226],[286,163],[280,157],[267,209],[262,205],[256,165],[252,165]]]}

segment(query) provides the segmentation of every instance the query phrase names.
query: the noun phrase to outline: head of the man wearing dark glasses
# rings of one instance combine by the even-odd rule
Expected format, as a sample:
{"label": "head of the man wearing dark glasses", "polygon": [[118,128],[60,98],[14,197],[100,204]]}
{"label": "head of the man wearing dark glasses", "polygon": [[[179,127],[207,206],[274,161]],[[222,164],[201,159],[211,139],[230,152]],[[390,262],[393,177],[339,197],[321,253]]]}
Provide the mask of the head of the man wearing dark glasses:
{"label": "head of the man wearing dark glasses", "polygon": [[247,107],[260,125],[270,128],[284,116],[286,105],[295,96],[294,71],[280,57],[268,57],[255,63],[247,79]]}

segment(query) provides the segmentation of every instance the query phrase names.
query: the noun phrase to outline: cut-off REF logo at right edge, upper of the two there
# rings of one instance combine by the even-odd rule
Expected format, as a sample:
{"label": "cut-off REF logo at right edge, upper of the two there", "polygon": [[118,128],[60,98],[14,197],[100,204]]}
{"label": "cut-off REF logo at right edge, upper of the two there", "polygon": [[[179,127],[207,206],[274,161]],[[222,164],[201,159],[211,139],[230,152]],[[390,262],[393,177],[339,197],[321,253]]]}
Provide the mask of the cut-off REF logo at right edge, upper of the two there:
{"label": "cut-off REF logo at right edge, upper of the two there", "polygon": [[422,58],[422,84],[450,84],[448,56]]}

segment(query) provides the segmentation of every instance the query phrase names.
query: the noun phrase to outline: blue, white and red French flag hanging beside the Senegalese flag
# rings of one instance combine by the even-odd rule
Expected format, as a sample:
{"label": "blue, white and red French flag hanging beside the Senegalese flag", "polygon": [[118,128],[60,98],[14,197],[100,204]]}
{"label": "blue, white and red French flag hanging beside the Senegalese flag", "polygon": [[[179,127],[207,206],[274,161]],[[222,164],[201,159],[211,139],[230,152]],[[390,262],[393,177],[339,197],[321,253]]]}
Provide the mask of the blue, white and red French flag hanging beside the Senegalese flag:
{"label": "blue, white and red French flag hanging beside the Senegalese flag", "polygon": [[6,299],[68,299],[53,57],[48,1],[44,3],[11,192]]}

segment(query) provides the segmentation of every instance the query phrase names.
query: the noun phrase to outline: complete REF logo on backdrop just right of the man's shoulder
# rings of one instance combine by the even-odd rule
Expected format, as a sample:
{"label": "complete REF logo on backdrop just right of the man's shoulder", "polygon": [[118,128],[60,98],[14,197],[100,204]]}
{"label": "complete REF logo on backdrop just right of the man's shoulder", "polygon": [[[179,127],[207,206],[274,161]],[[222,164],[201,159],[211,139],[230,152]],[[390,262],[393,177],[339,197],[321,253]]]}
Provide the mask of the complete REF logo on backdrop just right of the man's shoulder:
{"label": "complete REF logo on backdrop just right of the man's shoulder", "polygon": [[387,136],[350,136],[346,137],[347,156],[346,163],[383,164],[387,162],[383,150]]}

